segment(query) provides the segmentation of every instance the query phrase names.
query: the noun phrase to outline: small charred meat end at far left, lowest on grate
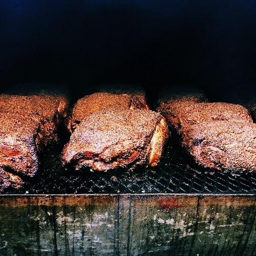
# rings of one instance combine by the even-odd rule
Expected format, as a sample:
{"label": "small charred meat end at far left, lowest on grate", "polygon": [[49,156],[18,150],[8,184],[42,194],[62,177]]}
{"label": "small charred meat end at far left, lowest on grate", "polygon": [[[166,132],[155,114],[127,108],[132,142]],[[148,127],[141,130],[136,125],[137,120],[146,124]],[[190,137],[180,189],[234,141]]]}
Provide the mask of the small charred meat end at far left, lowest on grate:
{"label": "small charred meat end at far left, lowest on grate", "polygon": [[15,175],[5,172],[4,169],[0,168],[0,193],[7,188],[19,188],[23,185],[23,180]]}

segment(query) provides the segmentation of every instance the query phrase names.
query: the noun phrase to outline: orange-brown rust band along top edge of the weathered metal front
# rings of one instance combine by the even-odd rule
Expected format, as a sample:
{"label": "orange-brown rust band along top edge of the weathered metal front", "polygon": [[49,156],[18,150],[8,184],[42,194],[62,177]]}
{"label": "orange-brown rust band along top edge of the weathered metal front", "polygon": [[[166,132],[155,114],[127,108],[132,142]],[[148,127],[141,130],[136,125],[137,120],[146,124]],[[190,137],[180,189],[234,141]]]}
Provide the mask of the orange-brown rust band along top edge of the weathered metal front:
{"label": "orange-brown rust band along top edge of the weathered metal front", "polygon": [[[184,195],[168,196],[168,195],[120,195],[120,200],[127,201],[133,198],[135,206],[157,207],[164,210],[175,208],[188,208],[196,206],[197,196],[187,197]],[[212,207],[218,205],[220,207],[232,206],[234,209],[240,207],[248,207],[255,205],[255,195],[243,196],[203,196],[201,199],[201,207]],[[6,207],[27,206],[29,205],[56,205],[68,206],[76,205],[101,205],[110,207],[117,204],[117,195],[0,195],[0,205]]]}

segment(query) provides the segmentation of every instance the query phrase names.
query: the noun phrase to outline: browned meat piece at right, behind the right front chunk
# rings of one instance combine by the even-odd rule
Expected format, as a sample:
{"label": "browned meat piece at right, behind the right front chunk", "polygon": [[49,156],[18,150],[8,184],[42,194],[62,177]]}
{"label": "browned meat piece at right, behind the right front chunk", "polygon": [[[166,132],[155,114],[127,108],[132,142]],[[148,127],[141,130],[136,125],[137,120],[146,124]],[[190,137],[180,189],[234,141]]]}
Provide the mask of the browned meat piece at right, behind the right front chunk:
{"label": "browned meat piece at right, behind the right front chunk", "polygon": [[224,102],[177,101],[166,103],[158,109],[178,133],[187,125],[219,120],[251,123],[249,111],[238,104]]}

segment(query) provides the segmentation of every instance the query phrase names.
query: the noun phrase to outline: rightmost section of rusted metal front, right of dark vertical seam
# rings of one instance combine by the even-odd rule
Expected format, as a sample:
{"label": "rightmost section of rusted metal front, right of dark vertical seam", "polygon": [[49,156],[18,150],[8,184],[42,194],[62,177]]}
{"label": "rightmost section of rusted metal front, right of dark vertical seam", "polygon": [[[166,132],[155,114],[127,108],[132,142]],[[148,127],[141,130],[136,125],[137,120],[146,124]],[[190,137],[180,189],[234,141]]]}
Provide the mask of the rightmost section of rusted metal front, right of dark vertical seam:
{"label": "rightmost section of rusted metal front, right of dark vertical seam", "polygon": [[201,247],[200,255],[255,255],[255,214],[255,196],[201,197],[193,248]]}

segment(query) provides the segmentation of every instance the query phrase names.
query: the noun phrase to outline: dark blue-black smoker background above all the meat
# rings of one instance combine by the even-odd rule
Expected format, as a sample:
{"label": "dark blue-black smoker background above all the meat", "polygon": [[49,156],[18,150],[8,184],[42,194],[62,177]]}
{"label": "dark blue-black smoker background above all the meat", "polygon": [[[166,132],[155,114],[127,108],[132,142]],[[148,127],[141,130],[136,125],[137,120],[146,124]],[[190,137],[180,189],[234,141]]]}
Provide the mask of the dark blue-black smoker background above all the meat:
{"label": "dark blue-black smoker background above all the meat", "polygon": [[196,83],[211,94],[256,80],[256,2],[0,1],[1,86]]}

